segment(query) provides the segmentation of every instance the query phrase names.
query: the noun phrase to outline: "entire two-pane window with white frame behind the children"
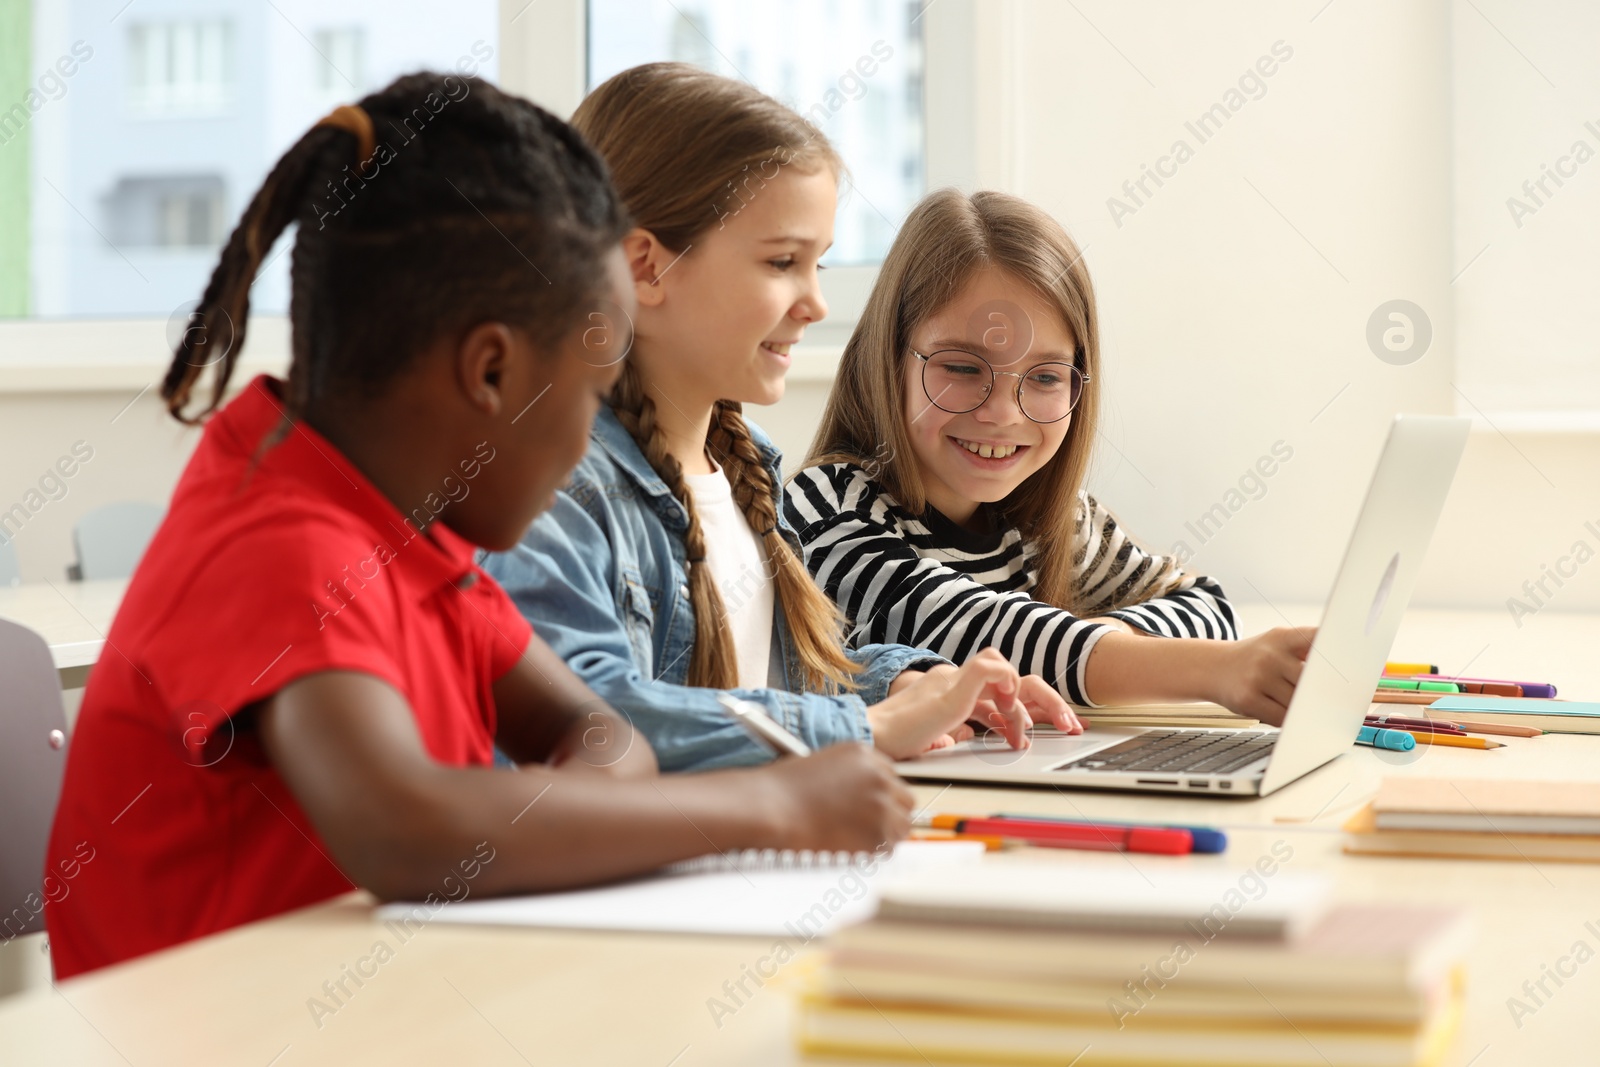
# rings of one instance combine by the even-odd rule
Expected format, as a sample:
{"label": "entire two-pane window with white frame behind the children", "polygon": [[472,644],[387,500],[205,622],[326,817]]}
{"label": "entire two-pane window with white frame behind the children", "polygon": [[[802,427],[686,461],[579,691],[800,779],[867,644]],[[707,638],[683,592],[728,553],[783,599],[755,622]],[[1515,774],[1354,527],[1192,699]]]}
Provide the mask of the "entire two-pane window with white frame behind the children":
{"label": "entire two-pane window with white frame behind the children", "polygon": [[[976,3],[0,2],[0,35],[21,42],[21,59],[0,67],[0,318],[165,322],[205,288],[216,242],[272,162],[334,104],[398,74],[478,74],[565,117],[587,82],[677,56],[733,77],[736,62],[816,115],[846,158],[856,187],[843,192],[829,258],[840,269],[822,278],[830,314],[808,333],[843,342],[877,272],[843,264],[875,264],[925,186],[995,184],[978,173],[995,154],[979,149],[992,123],[974,104],[974,56],[989,40]],[[880,40],[888,59],[872,53]],[[221,218],[210,232],[208,211]],[[130,232],[149,243],[125,245]],[[251,307],[288,307],[282,245]],[[46,346],[56,352],[106,349],[98,325],[82,338],[64,322],[48,328],[67,331]]]}

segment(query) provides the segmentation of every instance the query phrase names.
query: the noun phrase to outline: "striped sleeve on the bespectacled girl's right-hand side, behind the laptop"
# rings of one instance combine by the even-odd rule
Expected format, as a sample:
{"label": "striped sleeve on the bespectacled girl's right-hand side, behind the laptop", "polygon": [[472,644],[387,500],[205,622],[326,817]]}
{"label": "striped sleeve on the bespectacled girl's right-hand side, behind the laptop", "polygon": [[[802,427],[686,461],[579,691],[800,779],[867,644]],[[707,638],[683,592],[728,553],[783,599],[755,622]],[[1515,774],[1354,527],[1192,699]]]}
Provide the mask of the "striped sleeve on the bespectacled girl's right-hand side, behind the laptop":
{"label": "striped sleeve on the bespectacled girl's right-hand side, behind the laptop", "polygon": [[1158,637],[1238,638],[1234,606],[1203,574],[1139,547],[1088,493],[1078,512],[1077,581],[1090,616],[1122,619]]}

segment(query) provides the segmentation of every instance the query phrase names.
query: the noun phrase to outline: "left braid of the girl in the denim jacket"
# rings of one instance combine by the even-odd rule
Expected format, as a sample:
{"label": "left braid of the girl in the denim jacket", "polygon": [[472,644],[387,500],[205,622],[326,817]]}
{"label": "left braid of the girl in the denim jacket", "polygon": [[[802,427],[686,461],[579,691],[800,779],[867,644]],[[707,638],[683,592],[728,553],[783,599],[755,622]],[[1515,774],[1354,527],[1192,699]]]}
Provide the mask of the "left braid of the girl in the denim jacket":
{"label": "left braid of the girl in the denim jacket", "polygon": [[611,390],[611,410],[616,411],[618,422],[638,443],[651,469],[672,490],[672,496],[683,504],[690,528],[683,534],[683,549],[688,555],[690,571],[690,609],[694,611],[694,649],[690,653],[688,683],[709,689],[731,689],[739,685],[738,665],[733,651],[733,637],[723,625],[726,609],[717,582],[710,573],[710,561],[706,558],[706,531],[701,528],[699,515],[694,512],[694,498],[683,482],[683,466],[667,451],[661,429],[656,426],[656,402],[645,392],[638,370],[632,363],[622,366],[622,376]]}

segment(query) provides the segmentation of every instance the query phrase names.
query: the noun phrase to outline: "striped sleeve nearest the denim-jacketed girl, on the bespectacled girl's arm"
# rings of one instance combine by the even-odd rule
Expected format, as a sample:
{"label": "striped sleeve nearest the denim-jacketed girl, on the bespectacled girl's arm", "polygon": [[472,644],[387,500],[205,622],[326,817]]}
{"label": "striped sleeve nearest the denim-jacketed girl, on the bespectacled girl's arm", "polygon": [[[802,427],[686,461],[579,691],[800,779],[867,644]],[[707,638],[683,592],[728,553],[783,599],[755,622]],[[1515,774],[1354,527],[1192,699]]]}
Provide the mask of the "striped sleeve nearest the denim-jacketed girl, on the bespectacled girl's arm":
{"label": "striped sleeve nearest the denim-jacketed girl, on the bespectacled girl's arm", "polygon": [[853,645],[912,645],[954,662],[992,646],[1019,672],[1042,675],[1074,704],[1094,707],[1085,669],[1110,627],[922,558],[859,467],[802,470],[789,483],[784,515],[800,533],[811,574],[850,619]]}

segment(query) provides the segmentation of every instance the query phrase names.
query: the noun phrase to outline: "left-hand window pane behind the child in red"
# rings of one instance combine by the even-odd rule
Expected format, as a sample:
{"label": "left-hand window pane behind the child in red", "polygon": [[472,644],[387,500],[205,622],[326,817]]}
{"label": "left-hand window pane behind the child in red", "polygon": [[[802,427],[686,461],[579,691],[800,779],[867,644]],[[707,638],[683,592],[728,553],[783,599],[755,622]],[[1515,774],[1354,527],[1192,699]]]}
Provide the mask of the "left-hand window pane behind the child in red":
{"label": "left-hand window pane behind the child in red", "polygon": [[[496,0],[120,6],[32,0],[26,64],[0,72],[0,315],[165,320],[334,104],[419,69],[499,77]],[[251,310],[286,309],[269,256]]]}

